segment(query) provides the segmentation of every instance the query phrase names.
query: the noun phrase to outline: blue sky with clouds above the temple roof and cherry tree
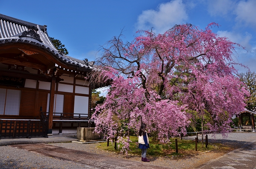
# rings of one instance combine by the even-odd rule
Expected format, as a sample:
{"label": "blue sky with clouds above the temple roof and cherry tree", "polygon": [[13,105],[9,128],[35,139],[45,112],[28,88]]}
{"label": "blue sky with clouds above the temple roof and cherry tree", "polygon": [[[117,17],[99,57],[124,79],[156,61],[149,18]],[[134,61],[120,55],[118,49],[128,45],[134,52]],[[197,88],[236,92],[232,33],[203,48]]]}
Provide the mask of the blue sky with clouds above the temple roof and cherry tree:
{"label": "blue sky with clouds above the temple roof and cherry tree", "polygon": [[236,62],[256,72],[256,0],[0,0],[0,13],[47,25],[48,35],[61,40],[69,56],[89,61],[122,29],[131,41],[137,30],[163,33],[183,23],[204,29],[216,22],[221,26],[214,32],[246,48],[236,49]]}

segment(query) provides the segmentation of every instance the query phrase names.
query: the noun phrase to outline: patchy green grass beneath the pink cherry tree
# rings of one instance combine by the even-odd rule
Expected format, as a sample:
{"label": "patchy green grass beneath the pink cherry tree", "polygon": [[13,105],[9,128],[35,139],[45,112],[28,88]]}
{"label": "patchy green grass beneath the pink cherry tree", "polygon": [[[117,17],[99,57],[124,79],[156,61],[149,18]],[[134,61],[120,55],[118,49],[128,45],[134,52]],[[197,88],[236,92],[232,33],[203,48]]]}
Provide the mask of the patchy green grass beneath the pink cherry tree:
{"label": "patchy green grass beneath the pink cherry tree", "polygon": [[[195,141],[192,140],[181,140],[180,138],[178,139],[178,153],[176,153],[176,147],[175,147],[175,138],[171,139],[171,143],[167,143],[167,144],[162,144],[162,143],[152,143],[151,142],[151,138],[149,138],[149,145],[150,148],[147,150],[147,155],[151,155],[151,156],[168,156],[168,157],[172,157],[172,156],[186,156],[186,155],[191,155],[191,154],[196,154],[198,153],[196,151],[196,147],[195,147]],[[138,148],[138,137],[136,136],[130,136],[130,140],[132,141],[130,143],[130,151],[128,151],[129,154],[132,155],[141,155],[141,149]],[[118,144],[117,144],[118,145]],[[98,148],[100,149],[104,149],[107,151],[114,151],[116,153],[120,153],[120,149],[115,150],[114,149],[114,143],[110,142],[109,146],[107,147],[107,143],[100,143],[98,144]],[[197,147],[198,151],[229,151],[230,147],[224,147],[221,144],[208,144],[208,147],[205,147],[205,143],[204,143],[204,147],[202,147],[202,143],[199,142],[198,143],[198,147]]]}

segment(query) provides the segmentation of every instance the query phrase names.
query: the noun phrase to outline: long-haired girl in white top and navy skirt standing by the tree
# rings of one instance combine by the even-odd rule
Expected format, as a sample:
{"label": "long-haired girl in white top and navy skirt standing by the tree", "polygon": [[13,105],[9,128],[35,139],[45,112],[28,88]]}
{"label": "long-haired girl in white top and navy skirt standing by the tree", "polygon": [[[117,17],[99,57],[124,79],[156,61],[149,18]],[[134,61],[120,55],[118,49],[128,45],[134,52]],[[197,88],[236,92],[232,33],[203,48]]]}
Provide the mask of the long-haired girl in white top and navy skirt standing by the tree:
{"label": "long-haired girl in white top and navy skirt standing by the tree", "polygon": [[142,123],[139,131],[139,148],[141,149],[141,161],[149,162],[146,158],[147,149],[149,148],[148,144],[148,134],[146,131],[146,124]]}

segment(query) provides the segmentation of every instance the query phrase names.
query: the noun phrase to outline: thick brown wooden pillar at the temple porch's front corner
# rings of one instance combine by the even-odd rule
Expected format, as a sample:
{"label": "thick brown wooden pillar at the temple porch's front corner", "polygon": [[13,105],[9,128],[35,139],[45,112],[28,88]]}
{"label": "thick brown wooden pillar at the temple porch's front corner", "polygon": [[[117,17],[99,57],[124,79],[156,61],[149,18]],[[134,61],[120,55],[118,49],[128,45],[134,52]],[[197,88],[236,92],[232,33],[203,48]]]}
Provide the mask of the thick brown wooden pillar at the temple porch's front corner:
{"label": "thick brown wooden pillar at the temple porch's front corner", "polygon": [[56,79],[52,77],[51,88],[50,88],[50,106],[48,114],[48,135],[52,135],[52,118],[53,118],[53,109],[54,109],[54,94],[55,94],[55,84]]}

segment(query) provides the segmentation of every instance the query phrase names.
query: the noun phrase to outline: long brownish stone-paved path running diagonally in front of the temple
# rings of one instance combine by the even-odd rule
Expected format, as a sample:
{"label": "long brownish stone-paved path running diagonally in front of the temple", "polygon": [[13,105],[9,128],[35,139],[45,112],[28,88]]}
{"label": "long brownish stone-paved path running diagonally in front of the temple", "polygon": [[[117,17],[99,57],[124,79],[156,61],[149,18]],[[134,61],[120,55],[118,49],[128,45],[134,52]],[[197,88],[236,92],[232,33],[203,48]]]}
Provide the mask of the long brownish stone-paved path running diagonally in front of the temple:
{"label": "long brownish stone-paved path running diagonally in front of the temple", "polygon": [[85,165],[85,167],[90,169],[171,169],[158,165],[152,165],[146,162],[107,157],[96,153],[88,153],[85,151],[67,149],[48,144],[23,144],[10,146],[39,153],[41,155],[70,161],[72,163],[82,163]]}

